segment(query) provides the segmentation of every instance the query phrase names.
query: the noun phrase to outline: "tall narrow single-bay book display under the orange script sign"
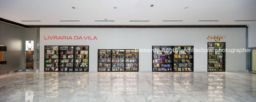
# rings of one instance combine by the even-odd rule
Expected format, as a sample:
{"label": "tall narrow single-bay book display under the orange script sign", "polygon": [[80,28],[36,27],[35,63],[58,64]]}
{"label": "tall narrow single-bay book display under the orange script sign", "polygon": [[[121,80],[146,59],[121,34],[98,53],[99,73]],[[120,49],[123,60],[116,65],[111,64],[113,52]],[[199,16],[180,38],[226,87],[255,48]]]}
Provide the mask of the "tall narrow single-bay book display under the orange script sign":
{"label": "tall narrow single-bay book display under the orange script sign", "polygon": [[225,42],[208,42],[208,72],[225,71]]}

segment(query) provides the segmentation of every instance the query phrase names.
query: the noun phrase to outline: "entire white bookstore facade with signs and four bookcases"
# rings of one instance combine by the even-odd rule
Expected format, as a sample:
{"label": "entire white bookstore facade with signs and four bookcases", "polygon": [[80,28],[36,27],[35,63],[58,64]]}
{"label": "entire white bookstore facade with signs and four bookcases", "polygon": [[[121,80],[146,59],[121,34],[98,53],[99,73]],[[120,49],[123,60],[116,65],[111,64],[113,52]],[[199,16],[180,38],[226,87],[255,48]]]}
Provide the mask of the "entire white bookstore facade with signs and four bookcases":
{"label": "entire white bookstore facade with signs and four bookcases", "polygon": [[[39,69],[45,72],[245,72],[245,52],[203,52],[203,49],[225,48],[246,48],[246,29],[40,28]],[[167,49],[175,50],[162,51]]]}

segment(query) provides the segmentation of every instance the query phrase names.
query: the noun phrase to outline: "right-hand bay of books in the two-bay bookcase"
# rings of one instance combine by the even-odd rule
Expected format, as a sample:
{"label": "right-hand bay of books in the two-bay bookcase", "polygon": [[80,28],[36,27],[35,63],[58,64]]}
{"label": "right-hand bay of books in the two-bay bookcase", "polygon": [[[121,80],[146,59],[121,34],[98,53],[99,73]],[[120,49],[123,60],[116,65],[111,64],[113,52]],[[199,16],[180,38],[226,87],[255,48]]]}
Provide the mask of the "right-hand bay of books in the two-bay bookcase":
{"label": "right-hand bay of books in the two-bay bookcase", "polygon": [[173,46],[173,70],[175,72],[193,71],[193,46]]}

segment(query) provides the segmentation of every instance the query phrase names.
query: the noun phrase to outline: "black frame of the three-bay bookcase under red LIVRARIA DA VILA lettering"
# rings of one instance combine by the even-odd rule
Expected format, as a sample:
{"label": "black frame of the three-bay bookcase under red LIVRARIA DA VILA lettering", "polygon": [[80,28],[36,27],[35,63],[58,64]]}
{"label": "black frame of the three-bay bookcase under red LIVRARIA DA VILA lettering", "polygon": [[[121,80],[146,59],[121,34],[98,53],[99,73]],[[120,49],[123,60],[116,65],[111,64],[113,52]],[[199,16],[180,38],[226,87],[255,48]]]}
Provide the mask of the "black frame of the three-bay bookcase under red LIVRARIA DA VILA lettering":
{"label": "black frame of the three-bay bookcase under red LIVRARIA DA VILA lettering", "polygon": [[[73,71],[60,71],[60,56],[62,55],[62,54],[60,54],[60,47],[61,46],[58,46],[58,50],[56,50],[56,51],[58,51],[58,71],[51,71],[51,69],[50,69],[50,71],[46,71],[45,70],[45,68],[46,68],[46,63],[45,63],[45,60],[46,60],[46,57],[45,57],[45,51],[46,51],[46,46],[44,46],[44,72],[89,72],[89,46],[88,46],[88,68],[87,68],[87,71],[75,71],[75,51],[76,51],[76,49],[75,49],[75,47],[77,47],[77,46],[73,46]],[[64,50],[63,50],[64,51]],[[54,52],[55,53],[55,52]],[[64,54],[63,54],[64,55]]]}

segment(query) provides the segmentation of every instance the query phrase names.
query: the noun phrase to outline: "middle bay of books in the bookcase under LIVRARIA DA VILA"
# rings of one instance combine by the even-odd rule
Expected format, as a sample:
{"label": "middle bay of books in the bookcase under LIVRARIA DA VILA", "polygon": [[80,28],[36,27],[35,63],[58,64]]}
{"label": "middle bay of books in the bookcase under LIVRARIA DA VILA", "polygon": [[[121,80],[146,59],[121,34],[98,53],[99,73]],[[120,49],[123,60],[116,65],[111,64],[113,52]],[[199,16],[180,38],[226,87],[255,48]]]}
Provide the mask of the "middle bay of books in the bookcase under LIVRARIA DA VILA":
{"label": "middle bay of books in the bookcase under LIVRARIA DA VILA", "polygon": [[74,71],[74,46],[59,46],[60,71]]}

